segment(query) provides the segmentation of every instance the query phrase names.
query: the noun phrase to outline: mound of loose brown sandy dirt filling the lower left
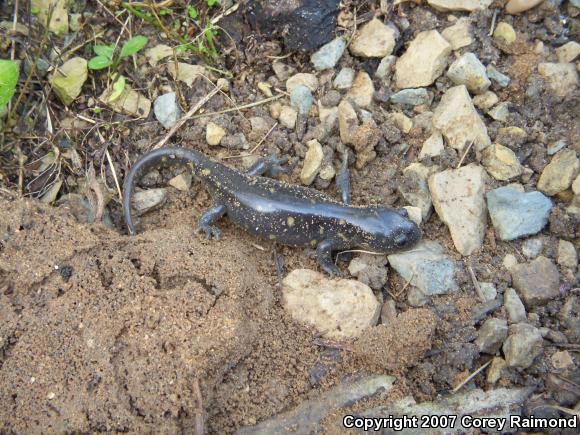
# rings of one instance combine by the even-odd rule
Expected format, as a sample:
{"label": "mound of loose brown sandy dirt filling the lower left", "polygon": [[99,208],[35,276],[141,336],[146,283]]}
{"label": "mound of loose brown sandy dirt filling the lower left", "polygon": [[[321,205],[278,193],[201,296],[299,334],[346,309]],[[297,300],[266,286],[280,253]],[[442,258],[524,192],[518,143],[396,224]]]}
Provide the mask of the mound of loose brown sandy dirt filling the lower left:
{"label": "mound of loose brown sandy dirt filling the lower left", "polygon": [[288,318],[270,254],[230,227],[127,237],[31,201],[0,222],[2,429],[191,430],[199,385],[206,427],[233,432],[299,403],[321,364],[325,387],[367,369]]}

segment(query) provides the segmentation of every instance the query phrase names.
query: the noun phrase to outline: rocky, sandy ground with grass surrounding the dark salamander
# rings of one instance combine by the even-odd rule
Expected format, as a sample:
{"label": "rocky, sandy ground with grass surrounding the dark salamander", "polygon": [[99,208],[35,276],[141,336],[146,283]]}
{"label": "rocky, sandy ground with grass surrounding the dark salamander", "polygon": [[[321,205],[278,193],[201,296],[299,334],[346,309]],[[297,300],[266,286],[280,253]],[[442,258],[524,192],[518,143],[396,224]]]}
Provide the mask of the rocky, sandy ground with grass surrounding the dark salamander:
{"label": "rocky, sandy ground with grass surrounding the dark salamander", "polygon": [[[49,3],[0,6],[20,71],[0,430],[578,418],[577,1]],[[161,142],[239,169],[288,157],[282,179],[335,197],[346,159],[353,203],[405,207],[423,240],[341,254],[330,279],[225,220],[200,238],[211,198],[175,167],[140,181],[128,236],[120,188]]]}

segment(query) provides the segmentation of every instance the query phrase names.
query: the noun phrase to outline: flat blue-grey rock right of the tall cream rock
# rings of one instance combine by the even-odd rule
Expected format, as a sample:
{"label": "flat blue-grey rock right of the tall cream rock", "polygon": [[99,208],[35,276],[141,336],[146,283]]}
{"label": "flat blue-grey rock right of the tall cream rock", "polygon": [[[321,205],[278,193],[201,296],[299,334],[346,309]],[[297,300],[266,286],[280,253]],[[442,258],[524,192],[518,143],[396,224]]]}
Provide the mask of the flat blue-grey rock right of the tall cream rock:
{"label": "flat blue-grey rock right of the tall cream rock", "polygon": [[491,222],[502,240],[536,234],[548,222],[552,202],[540,192],[500,187],[487,193]]}

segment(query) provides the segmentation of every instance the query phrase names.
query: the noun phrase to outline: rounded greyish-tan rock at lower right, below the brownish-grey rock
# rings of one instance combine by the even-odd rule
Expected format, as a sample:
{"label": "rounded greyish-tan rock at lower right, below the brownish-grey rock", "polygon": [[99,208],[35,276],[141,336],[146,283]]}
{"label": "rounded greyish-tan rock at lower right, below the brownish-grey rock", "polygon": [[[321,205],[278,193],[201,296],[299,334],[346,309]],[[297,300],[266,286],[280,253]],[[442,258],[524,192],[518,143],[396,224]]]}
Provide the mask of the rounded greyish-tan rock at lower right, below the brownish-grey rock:
{"label": "rounded greyish-tan rock at lower right, below the brownish-grey rock", "polygon": [[527,323],[510,327],[510,335],[503,344],[503,353],[508,367],[527,369],[542,353],[544,340],[540,331]]}

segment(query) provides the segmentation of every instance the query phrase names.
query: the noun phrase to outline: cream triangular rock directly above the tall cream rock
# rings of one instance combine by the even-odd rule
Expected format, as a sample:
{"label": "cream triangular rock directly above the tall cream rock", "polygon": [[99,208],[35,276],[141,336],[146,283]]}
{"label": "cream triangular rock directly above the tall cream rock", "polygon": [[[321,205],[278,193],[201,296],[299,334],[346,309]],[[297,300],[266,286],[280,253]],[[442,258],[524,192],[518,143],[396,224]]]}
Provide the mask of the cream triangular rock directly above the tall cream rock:
{"label": "cream triangular rock directly above the tall cream rock", "polygon": [[433,125],[447,139],[449,145],[463,150],[470,142],[481,151],[491,144],[487,127],[473,106],[465,85],[450,88],[443,94],[433,113]]}

